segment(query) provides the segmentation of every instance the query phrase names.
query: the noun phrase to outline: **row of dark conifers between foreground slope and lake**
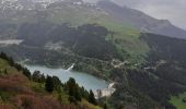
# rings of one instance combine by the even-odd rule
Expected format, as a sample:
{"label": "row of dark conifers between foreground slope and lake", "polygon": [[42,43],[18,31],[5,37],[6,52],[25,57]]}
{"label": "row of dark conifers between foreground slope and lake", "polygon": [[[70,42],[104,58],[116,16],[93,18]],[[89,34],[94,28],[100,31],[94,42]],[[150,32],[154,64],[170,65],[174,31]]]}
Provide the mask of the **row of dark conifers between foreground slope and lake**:
{"label": "row of dark conifers between foreground slope and lake", "polygon": [[15,63],[13,59],[5,53],[1,52],[0,58],[7,60],[11,66],[14,66],[18,71],[22,71],[23,74],[30,78],[31,81],[45,84],[45,90],[48,93],[53,93],[54,90],[58,92],[59,100],[61,96],[61,89],[63,88],[66,93],[69,95],[69,101],[72,104],[78,104],[82,99],[86,99],[89,102],[93,105],[97,105],[97,101],[94,97],[93,90],[88,92],[84,87],[80,87],[75,80],[70,77],[69,81],[65,84],[57,76],[45,76],[39,71],[35,71],[33,74],[26,68],[22,66],[19,63]]}

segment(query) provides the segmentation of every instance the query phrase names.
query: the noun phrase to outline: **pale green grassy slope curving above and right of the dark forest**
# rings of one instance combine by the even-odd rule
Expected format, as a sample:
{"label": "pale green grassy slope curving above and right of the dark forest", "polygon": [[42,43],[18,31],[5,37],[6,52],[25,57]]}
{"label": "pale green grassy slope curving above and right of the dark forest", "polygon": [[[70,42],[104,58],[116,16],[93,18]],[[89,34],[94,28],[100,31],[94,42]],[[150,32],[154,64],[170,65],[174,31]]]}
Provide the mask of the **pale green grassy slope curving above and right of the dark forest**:
{"label": "pale green grassy slope curving above and right of the dark forest", "polygon": [[[48,9],[35,14],[33,11],[20,12],[24,15],[16,14],[16,20],[9,20],[12,23],[24,23],[34,22],[37,19],[44,17],[54,24],[70,23],[72,26],[79,26],[83,24],[97,23],[105,26],[108,31],[114,32],[113,38],[107,36],[106,39],[113,41],[117,49],[124,53],[126,51],[128,55],[125,60],[135,63],[143,63],[144,57],[149,51],[149,47],[146,43],[139,39],[140,32],[133,26],[126,23],[125,21],[116,21],[114,16],[102,12],[101,10],[95,10],[86,7],[62,7],[62,9]],[[47,16],[43,16],[43,15]],[[24,17],[23,17],[24,16]],[[27,17],[25,17],[27,16]],[[119,40],[119,41],[116,41]]]}

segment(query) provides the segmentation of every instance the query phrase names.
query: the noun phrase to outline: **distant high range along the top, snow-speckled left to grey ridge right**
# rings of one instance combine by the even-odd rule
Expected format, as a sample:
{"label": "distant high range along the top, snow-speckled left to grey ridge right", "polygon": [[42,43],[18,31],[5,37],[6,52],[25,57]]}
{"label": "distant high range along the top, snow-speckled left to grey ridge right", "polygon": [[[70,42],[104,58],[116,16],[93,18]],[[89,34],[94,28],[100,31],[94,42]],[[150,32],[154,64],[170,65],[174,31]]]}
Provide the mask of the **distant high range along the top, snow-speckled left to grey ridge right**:
{"label": "distant high range along the top, snow-speckled left to grey ridge right", "polygon": [[86,10],[102,10],[103,13],[107,13],[107,17],[128,23],[140,32],[186,39],[186,31],[174,26],[170,21],[156,20],[143,12],[127,7],[119,7],[108,0],[101,0],[96,4],[85,3],[82,0],[0,0],[0,14],[7,13],[9,10],[46,10],[50,5],[58,4],[58,7],[61,7],[61,3],[67,2],[71,5],[92,8]]}

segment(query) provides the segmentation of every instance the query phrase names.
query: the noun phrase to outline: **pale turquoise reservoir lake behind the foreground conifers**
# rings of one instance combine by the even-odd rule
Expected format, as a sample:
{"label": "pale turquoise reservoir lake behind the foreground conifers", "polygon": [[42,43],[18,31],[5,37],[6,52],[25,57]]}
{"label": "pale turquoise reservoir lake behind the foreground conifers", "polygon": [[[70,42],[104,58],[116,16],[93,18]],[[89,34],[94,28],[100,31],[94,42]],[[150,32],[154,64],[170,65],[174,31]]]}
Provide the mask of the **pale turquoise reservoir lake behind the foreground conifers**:
{"label": "pale turquoise reservoir lake behind the foreground conifers", "polygon": [[40,71],[40,73],[44,73],[44,75],[58,76],[62,83],[67,82],[69,77],[73,77],[80,86],[83,86],[88,90],[92,89],[95,92],[96,89],[104,89],[108,86],[108,83],[106,83],[104,80],[97,78],[88,73],[68,71],[63,69],[54,69],[42,65],[25,65],[25,66],[32,73],[34,71]]}

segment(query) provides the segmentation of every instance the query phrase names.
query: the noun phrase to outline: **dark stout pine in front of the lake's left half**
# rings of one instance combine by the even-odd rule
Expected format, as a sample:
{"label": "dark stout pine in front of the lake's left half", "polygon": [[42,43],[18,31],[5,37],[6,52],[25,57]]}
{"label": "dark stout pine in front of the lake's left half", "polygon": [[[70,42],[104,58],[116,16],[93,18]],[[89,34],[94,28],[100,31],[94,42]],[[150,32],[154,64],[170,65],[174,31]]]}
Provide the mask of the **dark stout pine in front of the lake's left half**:
{"label": "dark stout pine in front of the lake's left half", "polygon": [[53,90],[54,90],[54,83],[53,83],[53,77],[51,76],[47,76],[46,82],[45,82],[45,89],[48,93],[53,93]]}

